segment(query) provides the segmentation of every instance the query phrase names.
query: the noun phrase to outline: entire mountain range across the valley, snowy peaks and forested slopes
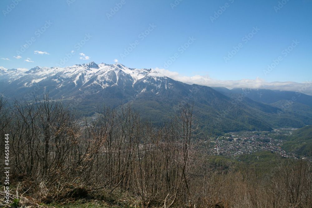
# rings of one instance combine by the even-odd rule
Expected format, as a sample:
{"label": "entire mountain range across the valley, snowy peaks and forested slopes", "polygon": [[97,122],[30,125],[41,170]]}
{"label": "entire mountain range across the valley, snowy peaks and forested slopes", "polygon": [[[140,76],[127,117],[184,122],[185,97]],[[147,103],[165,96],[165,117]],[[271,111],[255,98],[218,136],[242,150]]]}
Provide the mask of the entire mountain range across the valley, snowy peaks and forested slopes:
{"label": "entire mountain range across the valley, snowy peaks and forested slopes", "polygon": [[[131,105],[154,123],[163,123],[179,104],[194,103],[201,127],[209,132],[270,131],[312,124],[312,96],[265,89],[211,88],[173,80],[153,69],[105,63],[30,70],[0,67],[0,90],[9,101],[49,93],[93,116],[104,105]],[[294,99],[295,97],[295,99]]]}

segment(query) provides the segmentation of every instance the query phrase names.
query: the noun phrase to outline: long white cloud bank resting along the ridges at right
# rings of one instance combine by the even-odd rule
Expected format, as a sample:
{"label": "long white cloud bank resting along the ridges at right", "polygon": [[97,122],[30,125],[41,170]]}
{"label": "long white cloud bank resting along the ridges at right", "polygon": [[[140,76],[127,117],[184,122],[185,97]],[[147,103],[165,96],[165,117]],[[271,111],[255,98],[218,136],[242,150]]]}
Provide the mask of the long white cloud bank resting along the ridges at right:
{"label": "long white cloud bank resting along the ridges at right", "polygon": [[170,77],[173,80],[181,81],[187,84],[197,84],[209,87],[226,87],[228,89],[232,88],[251,88],[251,89],[271,89],[271,90],[285,90],[301,92],[303,94],[312,95],[312,82],[307,80],[304,83],[297,82],[266,82],[263,79],[257,77],[254,80],[242,79],[242,80],[216,80],[211,78],[209,75],[194,75],[194,76],[184,76],[180,75],[178,72],[172,72],[166,69],[156,68],[163,75]]}

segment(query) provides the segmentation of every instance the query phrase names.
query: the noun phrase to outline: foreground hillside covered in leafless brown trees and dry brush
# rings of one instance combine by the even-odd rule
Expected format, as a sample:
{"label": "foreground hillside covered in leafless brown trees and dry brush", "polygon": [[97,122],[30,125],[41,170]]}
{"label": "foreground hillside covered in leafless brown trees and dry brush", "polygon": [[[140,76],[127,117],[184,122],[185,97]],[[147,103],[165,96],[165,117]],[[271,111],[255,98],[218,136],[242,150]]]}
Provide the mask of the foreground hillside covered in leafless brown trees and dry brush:
{"label": "foreground hillside covered in leafless brown trees and dry brush", "polygon": [[162,125],[130,107],[105,107],[83,121],[48,95],[12,106],[1,98],[0,112],[10,140],[12,206],[312,206],[310,160],[207,155],[208,135],[187,103]]}

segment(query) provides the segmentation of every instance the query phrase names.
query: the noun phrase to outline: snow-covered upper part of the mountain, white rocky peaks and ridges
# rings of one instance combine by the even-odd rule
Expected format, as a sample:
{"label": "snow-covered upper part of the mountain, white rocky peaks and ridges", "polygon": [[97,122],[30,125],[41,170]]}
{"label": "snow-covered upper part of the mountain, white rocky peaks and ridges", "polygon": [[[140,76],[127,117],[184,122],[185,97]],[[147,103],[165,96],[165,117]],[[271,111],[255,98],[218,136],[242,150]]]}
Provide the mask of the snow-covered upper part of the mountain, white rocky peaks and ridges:
{"label": "snow-covered upper part of the mountain, white rocky peaks and ridges", "polygon": [[[93,61],[88,64],[74,65],[71,67],[39,67],[36,66],[28,71],[17,69],[0,68],[2,75],[0,80],[12,83],[18,80],[20,86],[32,87],[49,82],[56,89],[64,86],[75,86],[82,89],[103,89],[109,86],[134,86],[137,82],[153,82],[155,88],[161,86],[167,77],[152,69],[131,69],[122,64],[108,65],[101,63],[97,65]],[[154,81],[153,81],[154,80]]]}

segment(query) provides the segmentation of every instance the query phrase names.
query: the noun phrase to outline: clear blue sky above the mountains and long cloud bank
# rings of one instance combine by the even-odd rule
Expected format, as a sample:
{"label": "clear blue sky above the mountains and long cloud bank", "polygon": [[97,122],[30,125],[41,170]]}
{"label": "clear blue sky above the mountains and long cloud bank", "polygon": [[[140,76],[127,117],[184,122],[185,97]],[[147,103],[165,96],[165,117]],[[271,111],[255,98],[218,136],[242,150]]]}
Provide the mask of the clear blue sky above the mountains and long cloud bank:
{"label": "clear blue sky above the mountains and long cloud bank", "polygon": [[312,76],[311,0],[1,0],[0,10],[7,69],[118,59],[223,81]]}

